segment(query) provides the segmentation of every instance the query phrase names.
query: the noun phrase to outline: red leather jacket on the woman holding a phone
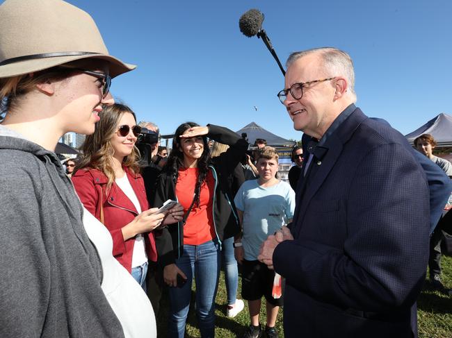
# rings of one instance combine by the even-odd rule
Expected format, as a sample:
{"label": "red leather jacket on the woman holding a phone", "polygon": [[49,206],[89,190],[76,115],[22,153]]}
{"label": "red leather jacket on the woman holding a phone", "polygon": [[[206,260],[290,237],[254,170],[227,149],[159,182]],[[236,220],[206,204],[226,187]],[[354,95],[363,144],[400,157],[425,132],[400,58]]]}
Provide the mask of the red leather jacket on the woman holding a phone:
{"label": "red leather jacket on the woman holding a phone", "polygon": [[[147,203],[145,184],[140,174],[133,174],[124,167],[130,185],[134,189],[142,211],[149,209]],[[108,178],[97,169],[81,169],[72,176],[75,190],[86,210],[91,212],[100,221],[100,205],[104,208],[104,225],[113,238],[113,256],[131,272],[132,254],[134,253],[135,238],[124,241],[122,227],[130,223],[138,214],[134,203],[113,182],[111,188],[106,189]],[[101,199],[102,196],[102,199]],[[155,240],[153,233],[143,233],[147,259],[157,260]]]}

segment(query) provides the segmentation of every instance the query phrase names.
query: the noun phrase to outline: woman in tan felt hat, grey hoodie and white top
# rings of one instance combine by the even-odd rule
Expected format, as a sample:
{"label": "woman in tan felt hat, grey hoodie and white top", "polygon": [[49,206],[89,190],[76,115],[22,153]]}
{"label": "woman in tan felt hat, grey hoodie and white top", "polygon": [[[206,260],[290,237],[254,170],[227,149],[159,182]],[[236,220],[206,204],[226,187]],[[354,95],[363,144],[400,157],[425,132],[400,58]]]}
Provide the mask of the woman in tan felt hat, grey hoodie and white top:
{"label": "woman in tan felt hat, grey hoodie and white top", "polygon": [[88,13],[60,0],[0,6],[0,337],[155,337],[152,306],[111,254],[54,153],[92,134],[111,78]]}

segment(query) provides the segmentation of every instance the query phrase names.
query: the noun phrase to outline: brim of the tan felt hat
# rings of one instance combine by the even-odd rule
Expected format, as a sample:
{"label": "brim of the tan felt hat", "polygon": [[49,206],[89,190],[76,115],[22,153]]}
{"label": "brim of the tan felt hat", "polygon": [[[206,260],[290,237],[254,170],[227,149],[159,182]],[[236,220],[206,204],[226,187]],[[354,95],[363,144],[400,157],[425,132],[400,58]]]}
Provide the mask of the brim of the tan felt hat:
{"label": "brim of the tan felt hat", "polygon": [[67,62],[76,60],[83,60],[92,58],[96,60],[106,60],[109,64],[109,74],[112,78],[120,74],[127,73],[136,68],[136,65],[129,65],[122,62],[114,56],[108,56],[105,54],[89,54],[85,56],[57,56],[54,58],[40,58],[32,60],[23,60],[14,62],[9,65],[0,66],[0,78],[10,78],[12,76],[19,76],[24,74],[34,73],[35,71],[41,71],[49,69],[51,67],[63,65]]}

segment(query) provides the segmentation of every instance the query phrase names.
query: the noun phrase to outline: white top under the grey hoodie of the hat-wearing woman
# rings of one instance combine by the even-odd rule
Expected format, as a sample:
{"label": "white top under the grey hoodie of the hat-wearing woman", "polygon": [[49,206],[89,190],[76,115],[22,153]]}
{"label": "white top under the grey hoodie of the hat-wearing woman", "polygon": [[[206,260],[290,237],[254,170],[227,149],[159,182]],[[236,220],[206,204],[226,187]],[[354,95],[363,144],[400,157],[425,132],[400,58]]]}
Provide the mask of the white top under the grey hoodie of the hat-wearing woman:
{"label": "white top under the grey hoodie of the hat-wearing woman", "polygon": [[155,338],[154,310],[145,291],[111,254],[113,239],[104,224],[83,207],[83,226],[102,264],[102,290],[126,338]]}

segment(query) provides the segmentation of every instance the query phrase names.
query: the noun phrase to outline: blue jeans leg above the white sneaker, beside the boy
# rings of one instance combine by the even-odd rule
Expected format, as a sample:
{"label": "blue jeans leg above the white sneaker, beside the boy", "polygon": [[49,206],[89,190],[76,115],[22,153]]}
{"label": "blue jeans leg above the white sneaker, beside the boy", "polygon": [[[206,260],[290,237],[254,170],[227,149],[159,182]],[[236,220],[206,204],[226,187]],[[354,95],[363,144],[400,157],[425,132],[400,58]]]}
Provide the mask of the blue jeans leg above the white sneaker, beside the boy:
{"label": "blue jeans leg above the white sneaker, beside the boy", "polygon": [[239,269],[234,256],[234,237],[223,239],[221,246],[221,258],[225,269],[225,284],[227,293],[227,305],[234,305],[237,297],[237,286],[239,285]]}

